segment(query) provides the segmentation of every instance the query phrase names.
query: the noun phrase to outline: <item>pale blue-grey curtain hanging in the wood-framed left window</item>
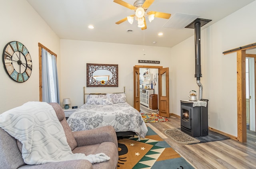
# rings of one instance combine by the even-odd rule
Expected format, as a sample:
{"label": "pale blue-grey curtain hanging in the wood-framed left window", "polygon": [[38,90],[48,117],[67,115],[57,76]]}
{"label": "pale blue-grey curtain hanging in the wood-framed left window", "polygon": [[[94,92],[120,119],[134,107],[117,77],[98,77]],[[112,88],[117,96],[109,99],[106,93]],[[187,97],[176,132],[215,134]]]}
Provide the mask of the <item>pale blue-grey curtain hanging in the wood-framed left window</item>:
{"label": "pale blue-grey curtain hanging in the wood-framed left window", "polygon": [[60,104],[56,56],[42,48],[42,101]]}

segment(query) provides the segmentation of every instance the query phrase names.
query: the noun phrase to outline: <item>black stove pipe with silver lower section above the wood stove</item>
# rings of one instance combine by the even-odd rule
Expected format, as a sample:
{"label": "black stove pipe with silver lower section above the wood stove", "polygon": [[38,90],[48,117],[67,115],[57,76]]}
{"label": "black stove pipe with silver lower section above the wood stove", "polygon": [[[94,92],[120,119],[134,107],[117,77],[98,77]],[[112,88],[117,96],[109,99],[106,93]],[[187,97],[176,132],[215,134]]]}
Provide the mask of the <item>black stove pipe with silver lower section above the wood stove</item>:
{"label": "black stove pipe with silver lower section above the wood stove", "polygon": [[202,99],[203,95],[203,85],[200,82],[200,77],[202,77],[201,73],[201,23],[195,22],[195,77],[196,83],[199,86],[199,100]]}

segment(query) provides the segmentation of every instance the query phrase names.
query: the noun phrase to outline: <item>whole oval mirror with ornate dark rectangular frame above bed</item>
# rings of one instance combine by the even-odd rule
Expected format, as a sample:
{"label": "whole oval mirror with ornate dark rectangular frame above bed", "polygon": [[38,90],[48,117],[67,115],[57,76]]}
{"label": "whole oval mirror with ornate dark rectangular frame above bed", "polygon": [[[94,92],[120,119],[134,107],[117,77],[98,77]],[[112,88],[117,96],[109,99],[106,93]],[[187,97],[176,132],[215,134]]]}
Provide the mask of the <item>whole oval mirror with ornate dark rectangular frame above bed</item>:
{"label": "whole oval mirror with ornate dark rectangular frame above bed", "polygon": [[118,65],[86,64],[87,87],[118,87]]}

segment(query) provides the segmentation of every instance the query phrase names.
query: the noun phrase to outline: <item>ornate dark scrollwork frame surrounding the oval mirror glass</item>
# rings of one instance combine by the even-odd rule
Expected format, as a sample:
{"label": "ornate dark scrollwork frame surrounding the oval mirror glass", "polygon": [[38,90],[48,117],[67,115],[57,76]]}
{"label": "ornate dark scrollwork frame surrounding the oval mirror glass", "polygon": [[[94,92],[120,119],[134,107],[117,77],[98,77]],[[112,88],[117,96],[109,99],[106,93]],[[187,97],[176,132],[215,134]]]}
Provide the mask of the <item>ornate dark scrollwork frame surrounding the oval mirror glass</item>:
{"label": "ornate dark scrollwork frame surrounding the oval mirror glass", "polygon": [[[96,81],[92,76],[95,71],[102,69],[110,71],[113,75],[104,84]],[[118,87],[118,65],[86,63],[86,87]]]}

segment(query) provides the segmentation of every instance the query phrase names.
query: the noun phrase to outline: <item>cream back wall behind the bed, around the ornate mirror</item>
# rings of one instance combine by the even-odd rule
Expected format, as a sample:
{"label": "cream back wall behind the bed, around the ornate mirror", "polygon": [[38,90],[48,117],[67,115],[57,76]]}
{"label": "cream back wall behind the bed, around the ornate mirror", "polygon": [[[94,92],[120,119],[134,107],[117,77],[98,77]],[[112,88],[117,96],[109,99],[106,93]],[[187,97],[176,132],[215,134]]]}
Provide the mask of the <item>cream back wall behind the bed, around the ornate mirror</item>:
{"label": "cream back wall behind the bed, around the ornate mirror", "polygon": [[[86,87],[86,93],[122,92],[126,86],[126,98],[133,105],[133,66],[153,65],[168,67],[170,48],[102,43],[92,41],[60,40],[61,93],[70,98],[70,106],[83,104],[83,86],[86,86],[86,63],[118,65],[118,87]],[[144,51],[143,51],[144,48]],[[146,54],[146,55],[143,55]],[[157,60],[160,64],[141,64],[138,60]],[[63,105],[62,105],[63,106]]]}

